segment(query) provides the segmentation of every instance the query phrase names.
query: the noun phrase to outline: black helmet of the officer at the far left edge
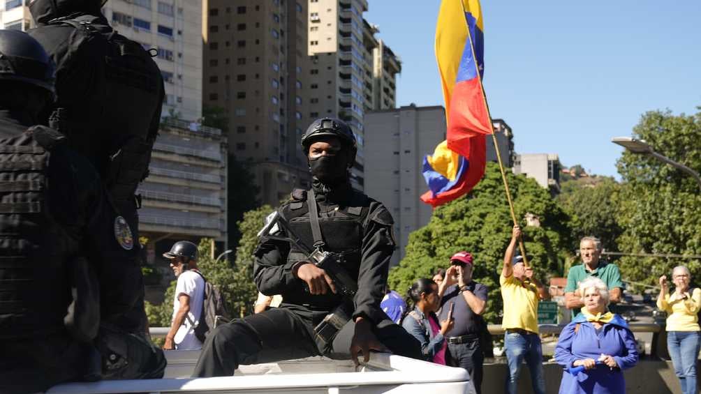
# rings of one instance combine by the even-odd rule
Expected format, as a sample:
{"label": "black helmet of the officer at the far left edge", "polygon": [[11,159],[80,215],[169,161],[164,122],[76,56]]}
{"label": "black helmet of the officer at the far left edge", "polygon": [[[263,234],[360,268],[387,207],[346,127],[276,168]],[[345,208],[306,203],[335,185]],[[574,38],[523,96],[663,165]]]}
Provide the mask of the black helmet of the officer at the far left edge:
{"label": "black helmet of the officer at the far left edge", "polygon": [[19,30],[0,30],[0,81],[29,83],[53,93],[54,73],[39,41]]}

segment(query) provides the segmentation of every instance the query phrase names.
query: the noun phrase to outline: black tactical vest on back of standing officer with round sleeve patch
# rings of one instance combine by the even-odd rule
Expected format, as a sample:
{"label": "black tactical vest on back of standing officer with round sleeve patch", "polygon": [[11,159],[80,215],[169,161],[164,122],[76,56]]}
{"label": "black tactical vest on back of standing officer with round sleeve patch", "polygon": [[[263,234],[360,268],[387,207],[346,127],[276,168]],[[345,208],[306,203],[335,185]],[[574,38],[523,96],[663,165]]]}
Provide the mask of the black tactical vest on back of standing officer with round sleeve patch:
{"label": "black tactical vest on back of standing officer with round sleeve patch", "polygon": [[57,18],[29,34],[57,65],[51,127],[70,136],[76,150],[93,161],[135,228],[134,195],[148,175],[163,104],[161,71],[142,45],[101,17]]}

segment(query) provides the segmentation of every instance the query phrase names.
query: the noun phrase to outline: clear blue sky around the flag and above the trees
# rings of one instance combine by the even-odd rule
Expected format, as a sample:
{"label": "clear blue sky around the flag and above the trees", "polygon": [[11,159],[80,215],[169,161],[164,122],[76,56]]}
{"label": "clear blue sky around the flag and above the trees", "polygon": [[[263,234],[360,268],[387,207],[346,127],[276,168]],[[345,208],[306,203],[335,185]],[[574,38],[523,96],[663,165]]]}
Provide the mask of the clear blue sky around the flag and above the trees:
{"label": "clear blue sky around the flag and above the trees", "polygon": [[[369,0],[368,22],[402,58],[397,105],[442,105],[438,0]],[[616,176],[641,114],[701,106],[701,1],[482,1],[484,87],[518,153]],[[428,152],[427,152],[428,153]]]}

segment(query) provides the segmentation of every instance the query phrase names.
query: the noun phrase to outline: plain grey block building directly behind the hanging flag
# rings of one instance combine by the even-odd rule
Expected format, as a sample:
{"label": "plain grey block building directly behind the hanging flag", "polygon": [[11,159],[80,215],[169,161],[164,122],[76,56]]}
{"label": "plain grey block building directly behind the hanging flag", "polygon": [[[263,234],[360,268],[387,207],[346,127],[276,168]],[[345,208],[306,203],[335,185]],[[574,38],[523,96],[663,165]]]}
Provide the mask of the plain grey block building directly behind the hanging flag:
{"label": "plain grey block building directly behind the hanging flag", "polygon": [[[493,125],[502,161],[509,167],[514,156],[511,128],[501,119],[495,119]],[[420,199],[428,191],[423,158],[433,154],[438,143],[445,140],[445,109],[411,104],[369,112],[365,114],[365,133],[365,191],[392,213],[398,248],[390,265],[397,265],[404,258],[409,233],[427,225],[433,212]],[[496,162],[492,136],[484,138],[486,158]]]}

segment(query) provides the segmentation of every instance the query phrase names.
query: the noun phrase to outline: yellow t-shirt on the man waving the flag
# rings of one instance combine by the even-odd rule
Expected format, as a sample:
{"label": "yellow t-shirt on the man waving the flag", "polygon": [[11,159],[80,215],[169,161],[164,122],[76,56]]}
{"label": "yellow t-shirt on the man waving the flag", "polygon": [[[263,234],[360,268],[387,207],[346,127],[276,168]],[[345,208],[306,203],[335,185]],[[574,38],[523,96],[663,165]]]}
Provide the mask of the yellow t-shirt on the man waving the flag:
{"label": "yellow t-shirt on the man waving the flag", "polygon": [[535,284],[522,284],[513,275],[499,276],[501,299],[504,301],[504,317],[501,327],[520,328],[538,333],[538,288]]}

